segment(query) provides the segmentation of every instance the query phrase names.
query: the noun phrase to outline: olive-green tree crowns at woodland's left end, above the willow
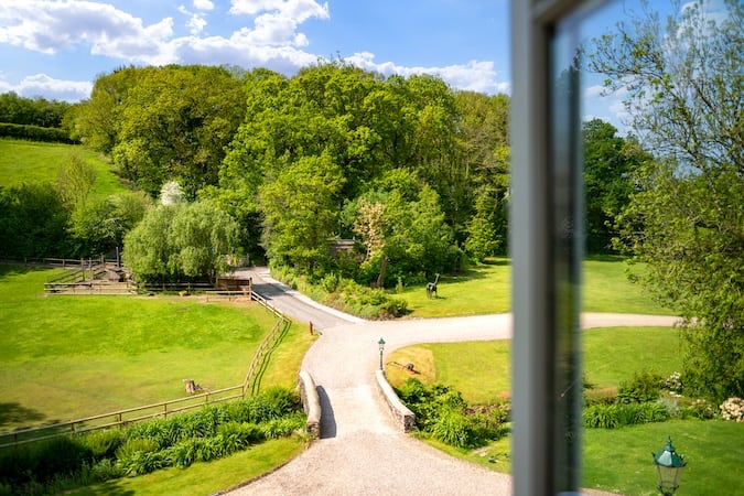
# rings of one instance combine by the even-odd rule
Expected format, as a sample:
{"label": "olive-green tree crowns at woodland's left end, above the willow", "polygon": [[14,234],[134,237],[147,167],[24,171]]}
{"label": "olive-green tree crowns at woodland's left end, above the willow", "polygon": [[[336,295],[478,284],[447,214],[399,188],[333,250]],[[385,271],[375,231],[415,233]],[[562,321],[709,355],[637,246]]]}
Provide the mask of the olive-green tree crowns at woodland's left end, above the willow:
{"label": "olive-green tree crowns at woodland's left end, above the willow", "polygon": [[86,144],[110,152],[125,177],[151,196],[176,179],[193,200],[217,184],[244,111],[240,82],[225,68],[127,67],[98,77],[74,121]]}

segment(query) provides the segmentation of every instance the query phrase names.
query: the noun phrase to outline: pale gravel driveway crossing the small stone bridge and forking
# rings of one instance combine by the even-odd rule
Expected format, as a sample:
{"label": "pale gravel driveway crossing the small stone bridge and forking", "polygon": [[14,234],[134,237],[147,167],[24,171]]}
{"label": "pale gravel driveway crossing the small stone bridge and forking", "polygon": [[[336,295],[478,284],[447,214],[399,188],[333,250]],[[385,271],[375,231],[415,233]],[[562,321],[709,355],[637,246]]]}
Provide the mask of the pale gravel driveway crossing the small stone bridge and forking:
{"label": "pale gravel driveway crossing the small stone bridge and forking", "polygon": [[[377,342],[386,355],[417,343],[508,339],[511,315],[364,321],[293,292],[262,268],[240,274],[293,319],[321,334],[302,369],[321,398],[321,439],[279,470],[228,494],[239,495],[455,495],[511,494],[511,478],[449,456],[403,434],[375,386]],[[676,317],[584,314],[584,327],[671,325]],[[600,493],[594,493],[600,494]]]}

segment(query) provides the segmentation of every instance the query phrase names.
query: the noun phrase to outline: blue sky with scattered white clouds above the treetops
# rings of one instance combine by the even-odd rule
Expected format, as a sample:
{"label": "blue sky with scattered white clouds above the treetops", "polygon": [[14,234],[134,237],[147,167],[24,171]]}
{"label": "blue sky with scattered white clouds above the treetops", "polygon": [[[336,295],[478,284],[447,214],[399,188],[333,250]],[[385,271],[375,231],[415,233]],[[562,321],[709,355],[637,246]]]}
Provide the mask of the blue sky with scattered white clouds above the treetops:
{"label": "blue sky with scattered white clouds above the treetops", "polygon": [[[611,2],[586,34],[635,3]],[[77,101],[96,76],[130,64],[291,76],[341,56],[385,75],[429,73],[454,88],[509,94],[508,17],[508,0],[0,0],[0,93]],[[619,128],[621,95],[586,86],[585,114]]]}

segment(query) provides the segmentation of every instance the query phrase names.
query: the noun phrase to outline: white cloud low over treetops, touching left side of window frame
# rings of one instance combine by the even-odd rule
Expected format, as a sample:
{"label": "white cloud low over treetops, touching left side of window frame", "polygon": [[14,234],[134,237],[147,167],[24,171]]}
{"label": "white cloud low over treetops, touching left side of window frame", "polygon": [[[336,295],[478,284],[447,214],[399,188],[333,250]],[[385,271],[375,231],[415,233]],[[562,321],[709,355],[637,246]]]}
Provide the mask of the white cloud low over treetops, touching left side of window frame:
{"label": "white cloud low over treetops, touching left side of window frame", "polygon": [[471,61],[467,64],[448,65],[444,67],[407,67],[392,62],[375,62],[375,55],[369,52],[355,53],[344,58],[358,67],[375,71],[386,76],[399,74],[410,76],[412,74],[431,74],[441,77],[450,86],[479,91],[486,94],[510,93],[508,82],[497,82],[493,62]]}

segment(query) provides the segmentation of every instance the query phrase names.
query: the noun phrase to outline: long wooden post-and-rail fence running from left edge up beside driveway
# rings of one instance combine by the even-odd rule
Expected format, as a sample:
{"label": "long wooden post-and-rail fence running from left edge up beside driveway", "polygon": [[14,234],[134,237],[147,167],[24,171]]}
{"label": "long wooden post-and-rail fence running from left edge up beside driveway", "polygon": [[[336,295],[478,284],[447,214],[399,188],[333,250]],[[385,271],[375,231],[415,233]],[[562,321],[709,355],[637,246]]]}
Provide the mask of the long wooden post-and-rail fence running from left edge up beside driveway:
{"label": "long wooden post-and-rail fence running from left edge up beside driveway", "polygon": [[[244,292],[240,292],[244,294]],[[277,322],[266,337],[261,341],[254,358],[248,367],[248,373],[241,385],[218,389],[215,391],[205,391],[185,398],[179,398],[169,401],[162,401],[143,407],[128,408],[117,410],[110,413],[85,417],[82,419],[60,422],[48,425],[21,429],[13,432],[0,434],[0,449],[17,446],[20,444],[32,443],[45,439],[57,438],[67,434],[80,434],[84,432],[112,427],[123,427],[142,420],[157,417],[168,417],[194,408],[205,407],[223,401],[230,401],[246,396],[252,396],[260,390],[261,378],[266,371],[271,353],[279,346],[282,338],[291,326],[291,321],[274,305],[270,304],[263,296],[250,290],[251,300],[270,311],[277,316]]]}

